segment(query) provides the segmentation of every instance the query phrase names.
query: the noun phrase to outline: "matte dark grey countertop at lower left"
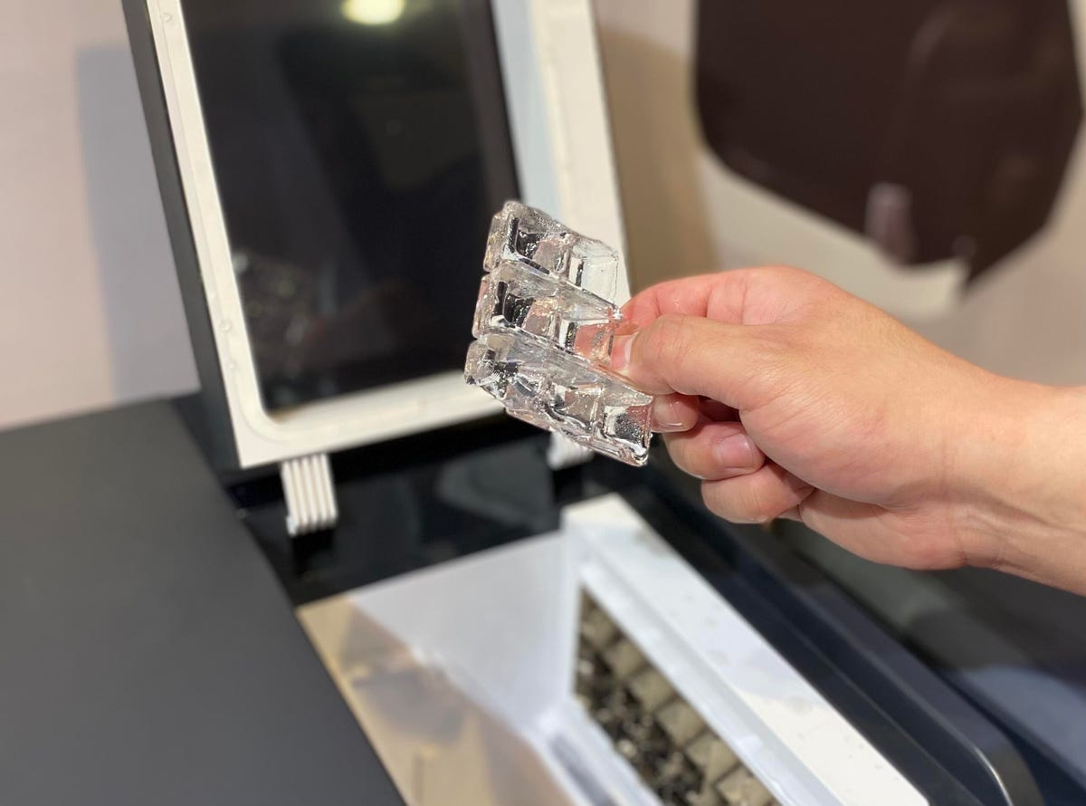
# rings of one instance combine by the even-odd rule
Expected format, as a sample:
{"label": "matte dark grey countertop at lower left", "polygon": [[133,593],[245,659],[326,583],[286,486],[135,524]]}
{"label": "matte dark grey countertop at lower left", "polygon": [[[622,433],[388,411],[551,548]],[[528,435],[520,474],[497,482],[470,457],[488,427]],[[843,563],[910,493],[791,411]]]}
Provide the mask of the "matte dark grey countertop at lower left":
{"label": "matte dark grey countertop at lower left", "polygon": [[168,403],[0,433],[0,803],[402,804]]}

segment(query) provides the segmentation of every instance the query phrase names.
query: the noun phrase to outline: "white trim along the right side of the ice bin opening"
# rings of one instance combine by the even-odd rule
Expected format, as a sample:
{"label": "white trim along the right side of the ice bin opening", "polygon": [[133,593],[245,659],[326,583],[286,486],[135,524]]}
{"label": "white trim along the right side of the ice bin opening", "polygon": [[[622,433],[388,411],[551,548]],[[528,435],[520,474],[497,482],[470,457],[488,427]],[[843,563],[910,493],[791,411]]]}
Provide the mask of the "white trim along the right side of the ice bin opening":
{"label": "white trim along the right side of the ice bin opening", "polygon": [[619,495],[568,507],[581,582],[787,806],[926,798]]}

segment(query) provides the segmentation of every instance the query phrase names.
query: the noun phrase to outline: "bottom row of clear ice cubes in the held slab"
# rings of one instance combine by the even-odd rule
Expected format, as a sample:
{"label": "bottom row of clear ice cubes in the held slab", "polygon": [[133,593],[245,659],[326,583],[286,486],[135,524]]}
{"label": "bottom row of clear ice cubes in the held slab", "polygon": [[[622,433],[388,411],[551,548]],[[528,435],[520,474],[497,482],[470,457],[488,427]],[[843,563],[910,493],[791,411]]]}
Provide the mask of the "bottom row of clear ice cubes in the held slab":
{"label": "bottom row of clear ice cubes in the held slab", "polygon": [[490,332],[468,349],[464,375],[514,417],[620,462],[648,458],[652,396],[602,367],[522,332]]}

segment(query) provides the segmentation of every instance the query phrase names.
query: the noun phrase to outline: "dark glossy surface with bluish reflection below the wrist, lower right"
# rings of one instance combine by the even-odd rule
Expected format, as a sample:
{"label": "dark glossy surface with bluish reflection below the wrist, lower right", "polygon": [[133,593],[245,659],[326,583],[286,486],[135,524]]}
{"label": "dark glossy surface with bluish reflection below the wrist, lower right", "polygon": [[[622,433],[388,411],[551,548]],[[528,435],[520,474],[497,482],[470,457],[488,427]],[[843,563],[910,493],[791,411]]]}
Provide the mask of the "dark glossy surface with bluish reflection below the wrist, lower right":
{"label": "dark glossy surface with bluish reflection below the wrist, lower right", "polygon": [[1086,599],[987,569],[876,565],[798,525],[781,533],[1008,732],[1046,804],[1084,802]]}

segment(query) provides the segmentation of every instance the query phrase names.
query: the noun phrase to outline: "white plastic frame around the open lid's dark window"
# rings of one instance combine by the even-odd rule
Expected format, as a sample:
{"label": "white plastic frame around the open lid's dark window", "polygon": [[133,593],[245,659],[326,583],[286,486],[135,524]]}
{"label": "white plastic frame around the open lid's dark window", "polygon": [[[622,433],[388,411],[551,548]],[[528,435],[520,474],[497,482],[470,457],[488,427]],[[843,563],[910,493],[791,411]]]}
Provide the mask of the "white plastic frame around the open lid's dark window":
{"label": "white plastic frame around the open lid's dark window", "polygon": [[[458,371],[286,413],[265,411],[235,281],[181,0],[147,0],[147,9],[238,465],[253,467],[328,453],[501,411],[484,392],[466,386]],[[523,201],[621,247],[610,134],[588,0],[493,0],[493,11]],[[482,249],[480,243],[480,259]],[[624,288],[620,291],[628,293]]]}

